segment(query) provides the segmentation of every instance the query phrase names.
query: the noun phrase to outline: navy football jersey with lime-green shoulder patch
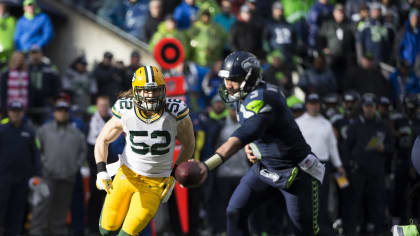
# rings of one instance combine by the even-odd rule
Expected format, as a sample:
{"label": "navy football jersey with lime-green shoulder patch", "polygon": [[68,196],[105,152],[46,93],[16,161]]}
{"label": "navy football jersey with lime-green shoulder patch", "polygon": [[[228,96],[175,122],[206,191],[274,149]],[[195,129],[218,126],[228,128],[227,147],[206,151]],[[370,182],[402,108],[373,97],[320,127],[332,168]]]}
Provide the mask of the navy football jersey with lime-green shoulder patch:
{"label": "navy football jersey with lime-green shoulder patch", "polygon": [[267,168],[296,166],[311,153],[278,87],[262,83],[235,107],[241,127],[232,136],[252,142]]}

